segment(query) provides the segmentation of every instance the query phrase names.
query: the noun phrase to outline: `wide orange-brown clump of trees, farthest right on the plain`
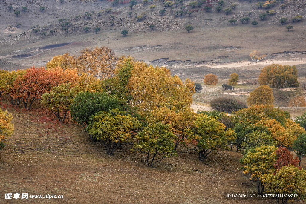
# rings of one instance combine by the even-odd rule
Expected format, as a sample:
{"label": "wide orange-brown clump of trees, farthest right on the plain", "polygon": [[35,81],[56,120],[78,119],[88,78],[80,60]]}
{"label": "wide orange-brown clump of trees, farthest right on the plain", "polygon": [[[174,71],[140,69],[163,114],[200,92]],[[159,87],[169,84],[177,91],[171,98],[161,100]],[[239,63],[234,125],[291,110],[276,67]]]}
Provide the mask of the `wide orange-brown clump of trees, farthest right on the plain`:
{"label": "wide orange-brown clump of trees, farthest right on the plain", "polygon": [[298,87],[297,67],[278,64],[265,66],[259,74],[258,83],[271,88]]}

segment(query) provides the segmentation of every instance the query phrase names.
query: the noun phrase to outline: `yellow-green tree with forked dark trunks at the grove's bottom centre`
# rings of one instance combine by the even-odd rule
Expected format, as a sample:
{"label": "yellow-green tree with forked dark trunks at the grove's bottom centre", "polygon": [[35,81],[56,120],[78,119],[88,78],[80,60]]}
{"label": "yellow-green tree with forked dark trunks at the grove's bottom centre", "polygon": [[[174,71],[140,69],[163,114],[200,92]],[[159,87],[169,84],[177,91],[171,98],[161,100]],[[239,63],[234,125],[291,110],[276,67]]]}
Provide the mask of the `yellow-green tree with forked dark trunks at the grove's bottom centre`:
{"label": "yellow-green tree with forked dark trunks at the grove's bottom centre", "polygon": [[149,124],[135,136],[135,143],[131,151],[147,154],[147,165],[151,167],[164,158],[177,156],[174,150],[175,135],[169,128],[169,124],[161,122]]}

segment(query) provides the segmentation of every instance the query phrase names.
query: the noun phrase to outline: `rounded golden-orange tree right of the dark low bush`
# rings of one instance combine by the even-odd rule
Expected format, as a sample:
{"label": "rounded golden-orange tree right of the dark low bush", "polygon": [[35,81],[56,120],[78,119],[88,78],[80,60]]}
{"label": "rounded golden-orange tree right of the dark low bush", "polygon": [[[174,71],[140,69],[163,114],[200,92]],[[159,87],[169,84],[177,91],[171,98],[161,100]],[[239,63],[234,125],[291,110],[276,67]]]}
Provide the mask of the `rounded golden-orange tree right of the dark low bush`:
{"label": "rounded golden-orange tree right of the dark low bush", "polygon": [[254,91],[250,93],[250,96],[248,97],[247,101],[248,106],[260,104],[273,105],[274,96],[272,89],[267,85],[257,87]]}

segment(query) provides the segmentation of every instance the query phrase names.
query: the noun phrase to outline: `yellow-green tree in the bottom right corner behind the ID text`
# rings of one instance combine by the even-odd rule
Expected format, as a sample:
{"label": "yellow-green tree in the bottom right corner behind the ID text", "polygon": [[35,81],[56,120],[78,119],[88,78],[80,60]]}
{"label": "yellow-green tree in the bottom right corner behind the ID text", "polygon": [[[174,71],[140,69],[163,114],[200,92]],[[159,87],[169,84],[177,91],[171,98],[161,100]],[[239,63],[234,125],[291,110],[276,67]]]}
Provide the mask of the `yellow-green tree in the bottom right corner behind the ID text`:
{"label": "yellow-green tree in the bottom right corner behind the ID text", "polygon": [[[266,187],[267,193],[272,194],[288,194],[296,193],[304,198],[306,194],[306,171],[299,169],[293,165],[283,166],[275,173],[265,174],[261,177],[261,182]],[[290,199],[286,196],[276,197],[276,201],[281,204],[287,203]]]}

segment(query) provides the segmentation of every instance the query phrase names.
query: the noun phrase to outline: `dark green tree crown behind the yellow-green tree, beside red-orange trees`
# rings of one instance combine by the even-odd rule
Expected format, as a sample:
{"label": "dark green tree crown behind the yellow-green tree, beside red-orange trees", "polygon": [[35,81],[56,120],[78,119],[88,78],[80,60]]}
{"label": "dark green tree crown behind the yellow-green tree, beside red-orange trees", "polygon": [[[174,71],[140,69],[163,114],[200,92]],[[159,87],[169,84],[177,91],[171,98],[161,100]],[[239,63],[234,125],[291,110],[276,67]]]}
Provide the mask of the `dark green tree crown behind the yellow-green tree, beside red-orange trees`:
{"label": "dark green tree crown behind the yellow-green tree, beside red-orange trees", "polygon": [[88,124],[91,115],[111,109],[122,109],[124,101],[109,96],[106,93],[80,92],[76,95],[70,105],[70,114],[74,121],[79,124]]}

